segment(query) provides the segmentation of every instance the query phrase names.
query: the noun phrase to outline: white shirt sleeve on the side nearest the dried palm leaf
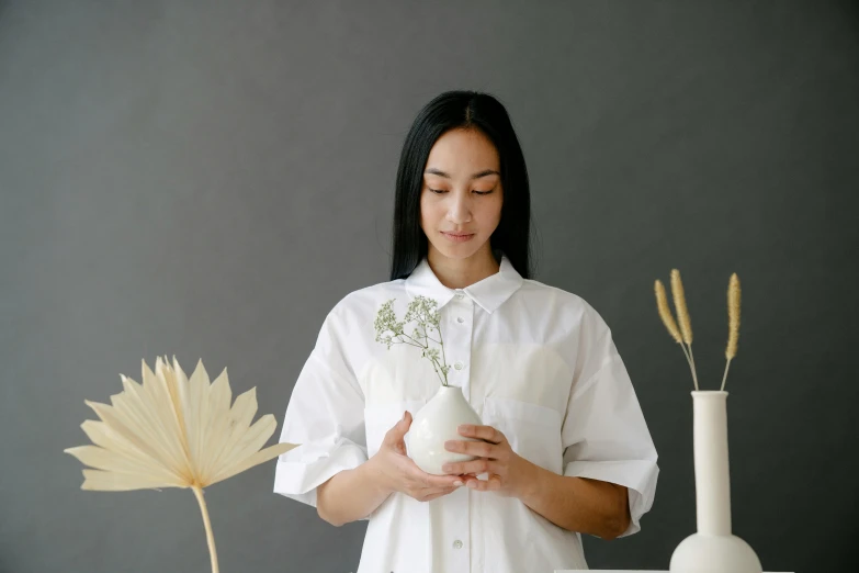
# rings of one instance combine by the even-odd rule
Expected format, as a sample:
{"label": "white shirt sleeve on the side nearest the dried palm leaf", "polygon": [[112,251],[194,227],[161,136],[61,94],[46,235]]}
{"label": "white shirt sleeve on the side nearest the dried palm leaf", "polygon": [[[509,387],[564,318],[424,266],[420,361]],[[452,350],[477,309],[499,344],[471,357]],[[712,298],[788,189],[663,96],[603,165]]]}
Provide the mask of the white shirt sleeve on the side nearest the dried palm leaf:
{"label": "white shirt sleeve on the side nearest the dried palm leaf", "polygon": [[316,488],[365,462],[364,396],[344,352],[347,333],[329,313],[286,406],[274,493],[316,506]]}

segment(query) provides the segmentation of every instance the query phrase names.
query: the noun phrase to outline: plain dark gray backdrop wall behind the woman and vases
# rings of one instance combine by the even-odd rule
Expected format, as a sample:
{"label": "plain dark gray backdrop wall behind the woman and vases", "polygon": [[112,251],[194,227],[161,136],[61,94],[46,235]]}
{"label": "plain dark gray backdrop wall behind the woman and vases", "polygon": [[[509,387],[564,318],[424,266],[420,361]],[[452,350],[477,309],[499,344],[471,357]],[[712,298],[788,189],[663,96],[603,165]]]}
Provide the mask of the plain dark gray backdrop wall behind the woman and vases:
{"label": "plain dark gray backdrop wall behind the woman and vases", "polygon": [[[595,569],[667,568],[694,530],[688,366],[653,281],[685,278],[702,384],[724,369],[734,529],[770,571],[856,563],[851,358],[859,11],[849,2],[0,1],[0,571],[207,571],[187,491],[81,492],[79,425],[118,373],[228,367],[279,422],[326,313],[387,280],[419,108],[508,106],[536,279],[613,329],[662,469]],[[278,430],[280,431],[280,430]],[[222,571],[354,571],[365,524],[207,491]]]}

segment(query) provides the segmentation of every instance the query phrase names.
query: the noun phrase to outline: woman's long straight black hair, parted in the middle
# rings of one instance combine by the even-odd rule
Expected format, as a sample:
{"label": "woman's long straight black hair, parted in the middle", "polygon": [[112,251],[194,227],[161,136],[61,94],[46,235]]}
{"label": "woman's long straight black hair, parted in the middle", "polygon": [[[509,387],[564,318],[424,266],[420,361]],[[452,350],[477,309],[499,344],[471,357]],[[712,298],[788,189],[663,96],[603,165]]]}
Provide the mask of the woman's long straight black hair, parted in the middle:
{"label": "woman's long straight black hair, parted in the middle", "polygon": [[488,93],[448,91],[418,113],[403,145],[394,200],[394,255],[391,280],[404,279],[428,252],[420,228],[420,193],[430,149],[454,128],[478,130],[498,150],[501,168],[501,220],[489,238],[500,262],[504,254],[524,279],[531,278],[531,192],[522,148],[505,106]]}

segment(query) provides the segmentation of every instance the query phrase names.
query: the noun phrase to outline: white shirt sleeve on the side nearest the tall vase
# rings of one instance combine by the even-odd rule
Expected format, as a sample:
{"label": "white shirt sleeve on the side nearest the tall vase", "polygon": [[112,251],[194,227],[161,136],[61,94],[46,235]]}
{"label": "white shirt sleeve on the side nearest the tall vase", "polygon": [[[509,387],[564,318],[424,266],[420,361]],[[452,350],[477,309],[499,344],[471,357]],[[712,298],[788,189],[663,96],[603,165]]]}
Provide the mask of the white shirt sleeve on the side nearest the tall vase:
{"label": "white shirt sleeve on the side nearest the tall vase", "polygon": [[579,357],[561,432],[564,475],[625,486],[631,523],[621,537],[629,536],[653,505],[657,454],[611,332],[592,308],[583,321]]}

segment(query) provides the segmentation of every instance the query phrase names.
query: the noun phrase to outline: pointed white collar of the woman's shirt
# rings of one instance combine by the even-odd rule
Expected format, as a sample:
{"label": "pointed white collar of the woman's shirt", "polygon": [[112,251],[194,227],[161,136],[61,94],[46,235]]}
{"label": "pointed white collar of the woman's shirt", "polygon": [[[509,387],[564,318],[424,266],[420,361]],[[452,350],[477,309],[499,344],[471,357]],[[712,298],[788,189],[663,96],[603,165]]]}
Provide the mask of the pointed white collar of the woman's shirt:
{"label": "pointed white collar of the woman's shirt", "polygon": [[406,292],[411,297],[417,295],[434,299],[439,308],[448,304],[457,292],[464,292],[487,313],[491,314],[522,285],[523,279],[510,259],[501,256],[498,272],[486,277],[464,289],[449,289],[439,281],[432,268],[423,257],[411,274],[406,279]]}

